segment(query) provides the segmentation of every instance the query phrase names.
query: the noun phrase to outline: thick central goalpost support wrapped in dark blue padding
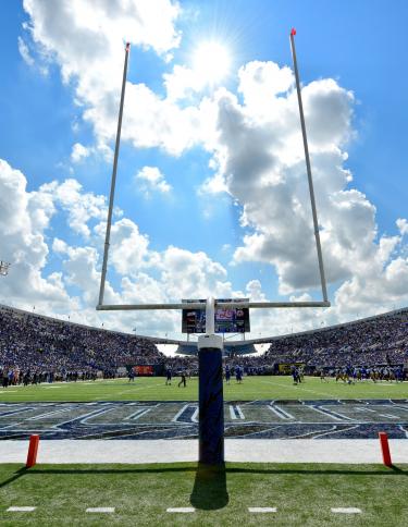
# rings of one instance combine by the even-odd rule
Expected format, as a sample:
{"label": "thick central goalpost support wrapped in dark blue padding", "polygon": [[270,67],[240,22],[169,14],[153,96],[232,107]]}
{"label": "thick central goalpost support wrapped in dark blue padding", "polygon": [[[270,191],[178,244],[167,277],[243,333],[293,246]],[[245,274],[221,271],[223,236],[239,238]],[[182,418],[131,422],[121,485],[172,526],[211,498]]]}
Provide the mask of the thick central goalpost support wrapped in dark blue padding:
{"label": "thick central goalpost support wrapped in dark blue padding", "polygon": [[222,385],[221,335],[214,334],[214,298],[207,299],[206,334],[198,338],[198,437],[199,462],[224,463],[224,397]]}

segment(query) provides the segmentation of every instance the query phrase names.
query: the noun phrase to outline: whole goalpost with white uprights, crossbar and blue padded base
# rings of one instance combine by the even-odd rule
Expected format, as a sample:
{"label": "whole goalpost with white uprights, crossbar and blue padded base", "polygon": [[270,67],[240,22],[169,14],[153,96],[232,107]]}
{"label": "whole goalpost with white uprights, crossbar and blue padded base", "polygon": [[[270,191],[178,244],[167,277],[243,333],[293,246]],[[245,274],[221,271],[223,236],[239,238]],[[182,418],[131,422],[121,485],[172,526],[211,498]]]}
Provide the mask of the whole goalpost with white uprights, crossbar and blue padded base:
{"label": "whole goalpost with white uprights, crossbar and blue padded base", "polygon": [[[323,299],[320,302],[223,302],[220,306],[223,308],[252,308],[252,309],[271,309],[271,308],[304,308],[304,307],[330,307],[327,299],[327,290],[324,275],[323,257],[320,244],[320,233],[318,223],[318,213],[314,200],[313,181],[311,174],[311,164],[309,157],[309,147],[306,134],[306,124],[304,107],[301,100],[299,72],[297,68],[297,58],[295,49],[296,30],[290,30],[290,49],[293,65],[295,71],[297,99],[299,106],[300,126],[304,139],[306,170],[308,174],[310,204],[313,219],[314,240],[317,256],[319,261],[319,273]],[[121,102],[119,109],[118,131],[115,149],[113,157],[113,169],[111,179],[111,189],[109,197],[109,209],[107,220],[107,231],[103,248],[103,262],[99,289],[99,301],[96,307],[99,311],[122,311],[122,310],[156,310],[156,309],[206,309],[206,333],[198,338],[198,361],[199,361],[199,462],[209,465],[221,465],[224,463],[224,399],[222,383],[222,350],[223,340],[221,335],[215,334],[214,315],[218,303],[213,297],[209,297],[206,303],[169,303],[169,304],[103,304],[104,284],[108,269],[108,254],[110,246],[112,211],[114,203],[114,192],[116,185],[118,158],[121,143],[121,130],[123,118],[123,103],[125,99],[127,63],[131,45],[125,47],[125,61],[123,68]]]}

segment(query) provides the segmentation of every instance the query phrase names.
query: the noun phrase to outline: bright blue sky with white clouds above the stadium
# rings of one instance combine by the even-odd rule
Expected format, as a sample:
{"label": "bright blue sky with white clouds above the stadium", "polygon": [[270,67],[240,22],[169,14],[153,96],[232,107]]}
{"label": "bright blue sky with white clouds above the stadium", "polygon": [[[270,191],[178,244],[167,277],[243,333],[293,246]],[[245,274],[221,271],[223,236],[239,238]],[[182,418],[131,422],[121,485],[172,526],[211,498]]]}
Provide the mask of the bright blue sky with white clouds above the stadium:
{"label": "bright blue sky with white clouds above the stadium", "polygon": [[408,304],[404,0],[0,4],[0,302],[139,334],[177,311],[97,312],[131,42],[109,304],[321,299],[292,65],[302,85],[326,309],[290,333]]}

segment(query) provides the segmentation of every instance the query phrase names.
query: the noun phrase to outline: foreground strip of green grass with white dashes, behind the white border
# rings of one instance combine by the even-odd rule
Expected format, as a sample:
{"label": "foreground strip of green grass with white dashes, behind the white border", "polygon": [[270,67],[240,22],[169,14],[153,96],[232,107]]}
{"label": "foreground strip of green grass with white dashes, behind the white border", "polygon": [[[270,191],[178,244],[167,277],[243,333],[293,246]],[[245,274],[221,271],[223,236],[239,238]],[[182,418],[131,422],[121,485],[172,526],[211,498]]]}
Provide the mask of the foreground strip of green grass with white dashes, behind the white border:
{"label": "foreground strip of green grass with white dashes, behind the white border", "polygon": [[[408,465],[0,465],[0,525],[408,525]],[[9,506],[36,506],[32,513]],[[87,507],[115,513],[89,514]],[[170,514],[168,507],[194,506]],[[249,506],[276,513],[251,514]],[[335,515],[331,507],[358,507]]]}

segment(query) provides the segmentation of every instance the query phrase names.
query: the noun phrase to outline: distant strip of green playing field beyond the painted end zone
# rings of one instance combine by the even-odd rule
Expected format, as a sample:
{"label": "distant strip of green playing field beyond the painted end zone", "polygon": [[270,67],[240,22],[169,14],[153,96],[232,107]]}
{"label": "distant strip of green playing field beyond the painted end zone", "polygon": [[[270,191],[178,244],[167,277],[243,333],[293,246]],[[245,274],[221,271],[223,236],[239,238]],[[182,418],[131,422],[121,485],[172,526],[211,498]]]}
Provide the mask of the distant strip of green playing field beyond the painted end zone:
{"label": "distant strip of green playing field beyond the painted end zone", "polygon": [[[243,384],[235,380],[224,383],[225,401],[255,401],[268,399],[330,400],[330,399],[407,399],[407,382],[364,381],[344,384],[330,379],[307,377],[305,383],[294,385],[290,377],[245,377]],[[134,383],[127,379],[98,380],[96,382],[60,382],[29,387],[0,389],[1,402],[34,401],[197,401],[198,380],[187,380],[187,388],[178,388],[178,379],[172,385],[164,384],[162,377],[140,377]]]}

